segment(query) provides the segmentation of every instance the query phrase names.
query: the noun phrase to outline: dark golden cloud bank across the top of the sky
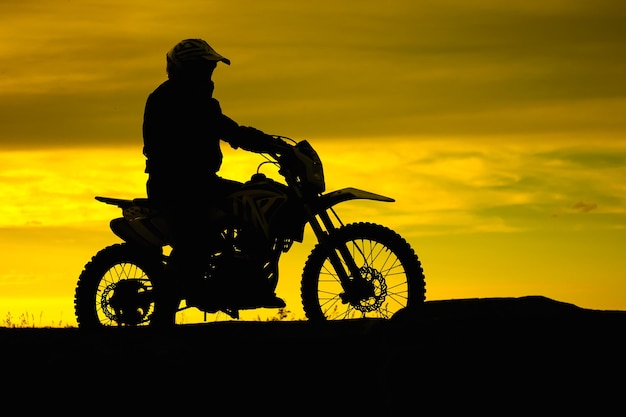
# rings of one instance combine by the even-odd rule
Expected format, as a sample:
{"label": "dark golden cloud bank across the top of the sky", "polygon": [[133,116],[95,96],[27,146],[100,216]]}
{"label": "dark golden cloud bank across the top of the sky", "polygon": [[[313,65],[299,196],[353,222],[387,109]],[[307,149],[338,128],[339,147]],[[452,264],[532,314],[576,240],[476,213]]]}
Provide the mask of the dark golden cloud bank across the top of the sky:
{"label": "dark golden cloud bank across the top of the sky", "polygon": [[625,129],[618,1],[39,0],[0,12],[3,147],[134,140],[165,51],[188,36],[233,60],[215,75],[225,111],[272,132]]}

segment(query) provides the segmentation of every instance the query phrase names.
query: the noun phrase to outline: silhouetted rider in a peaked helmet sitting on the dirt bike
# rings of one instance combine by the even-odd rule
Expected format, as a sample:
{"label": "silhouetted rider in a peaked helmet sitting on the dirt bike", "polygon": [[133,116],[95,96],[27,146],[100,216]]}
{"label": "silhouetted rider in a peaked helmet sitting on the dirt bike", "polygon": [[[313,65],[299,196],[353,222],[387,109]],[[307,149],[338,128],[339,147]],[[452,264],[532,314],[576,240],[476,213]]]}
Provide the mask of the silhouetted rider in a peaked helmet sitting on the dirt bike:
{"label": "silhouetted rider in a peaked helmet sitting on the dirt bike", "polygon": [[[230,65],[230,60],[206,41],[182,40],[167,52],[166,62],[168,79],[148,96],[144,112],[146,189],[172,232],[168,274],[198,283],[203,255],[219,231],[211,227],[208,216],[194,213],[208,213],[220,198],[241,186],[217,175],[222,164],[220,140],[235,149],[267,152],[276,139],[222,113],[213,98],[211,77],[218,62]],[[272,289],[259,296],[261,306],[285,306]]]}

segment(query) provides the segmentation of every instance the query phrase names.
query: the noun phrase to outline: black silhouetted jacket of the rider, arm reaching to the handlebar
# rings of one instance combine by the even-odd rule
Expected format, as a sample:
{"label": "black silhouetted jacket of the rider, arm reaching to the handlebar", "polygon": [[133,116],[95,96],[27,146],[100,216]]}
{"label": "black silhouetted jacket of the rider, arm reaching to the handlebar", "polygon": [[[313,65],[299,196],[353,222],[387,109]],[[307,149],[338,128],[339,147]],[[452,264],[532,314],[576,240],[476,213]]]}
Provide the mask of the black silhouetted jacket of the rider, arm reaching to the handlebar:
{"label": "black silhouetted jacket of the rider, arm reaching to the handlebar", "polygon": [[214,181],[222,164],[220,140],[255,152],[267,149],[268,135],[239,126],[212,95],[211,81],[168,79],[148,96],[143,153],[153,189],[182,192]]}

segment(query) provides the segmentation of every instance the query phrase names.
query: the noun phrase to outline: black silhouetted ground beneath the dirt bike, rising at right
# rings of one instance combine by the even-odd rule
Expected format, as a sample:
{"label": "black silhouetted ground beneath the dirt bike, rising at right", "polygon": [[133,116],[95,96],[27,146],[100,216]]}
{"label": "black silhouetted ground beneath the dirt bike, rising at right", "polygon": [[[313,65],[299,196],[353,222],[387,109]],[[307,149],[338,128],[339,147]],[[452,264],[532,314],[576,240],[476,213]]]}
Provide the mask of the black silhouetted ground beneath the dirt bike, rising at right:
{"label": "black silhouetted ground beneath the dirt bike, rising at right", "polygon": [[2,328],[3,397],[26,414],[599,415],[623,407],[624,330],[626,312],[541,296],[388,321]]}

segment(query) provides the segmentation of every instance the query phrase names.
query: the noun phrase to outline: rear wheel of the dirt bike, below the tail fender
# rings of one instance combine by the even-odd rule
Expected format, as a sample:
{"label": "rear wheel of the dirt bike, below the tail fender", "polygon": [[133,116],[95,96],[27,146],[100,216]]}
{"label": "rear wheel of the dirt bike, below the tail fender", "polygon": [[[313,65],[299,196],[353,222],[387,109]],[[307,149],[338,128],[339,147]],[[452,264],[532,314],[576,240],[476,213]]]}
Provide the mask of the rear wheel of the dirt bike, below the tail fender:
{"label": "rear wheel of the dirt bike, below the tail fender", "polygon": [[74,296],[80,328],[145,326],[154,313],[154,282],[163,276],[158,250],[127,243],[99,251],[81,272]]}

